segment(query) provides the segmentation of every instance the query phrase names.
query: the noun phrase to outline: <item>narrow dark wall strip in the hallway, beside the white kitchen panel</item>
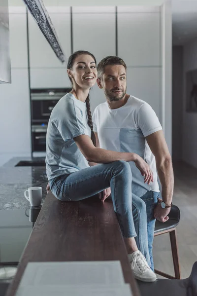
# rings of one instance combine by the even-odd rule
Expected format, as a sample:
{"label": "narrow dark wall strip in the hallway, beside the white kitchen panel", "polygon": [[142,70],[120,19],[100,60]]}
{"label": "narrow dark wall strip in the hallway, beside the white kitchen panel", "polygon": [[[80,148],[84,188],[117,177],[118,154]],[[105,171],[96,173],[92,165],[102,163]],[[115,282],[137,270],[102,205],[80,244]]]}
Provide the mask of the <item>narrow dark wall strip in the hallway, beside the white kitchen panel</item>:
{"label": "narrow dark wall strip in the hallway, beside the white kitchen panel", "polygon": [[183,47],[173,46],[172,53],[172,158],[182,160],[183,128]]}

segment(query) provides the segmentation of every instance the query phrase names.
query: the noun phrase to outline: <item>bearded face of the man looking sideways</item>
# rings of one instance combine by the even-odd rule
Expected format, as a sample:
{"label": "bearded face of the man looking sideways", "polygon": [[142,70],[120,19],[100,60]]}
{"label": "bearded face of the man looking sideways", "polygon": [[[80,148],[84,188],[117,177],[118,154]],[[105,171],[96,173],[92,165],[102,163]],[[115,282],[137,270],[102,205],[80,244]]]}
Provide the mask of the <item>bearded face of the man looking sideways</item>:
{"label": "bearded face of the man looking sideways", "polygon": [[123,65],[108,65],[101,79],[97,79],[99,88],[103,88],[106,98],[110,101],[120,101],[126,94],[127,76]]}

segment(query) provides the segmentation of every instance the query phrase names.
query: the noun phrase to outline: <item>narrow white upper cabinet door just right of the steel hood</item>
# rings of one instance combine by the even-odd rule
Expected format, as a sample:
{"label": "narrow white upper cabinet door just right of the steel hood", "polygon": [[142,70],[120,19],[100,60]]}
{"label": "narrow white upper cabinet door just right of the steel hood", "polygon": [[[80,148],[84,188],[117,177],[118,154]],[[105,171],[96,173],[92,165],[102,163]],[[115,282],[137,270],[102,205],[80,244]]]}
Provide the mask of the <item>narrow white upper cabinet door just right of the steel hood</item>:
{"label": "narrow white upper cabinet door just right of the steel hood", "polygon": [[11,68],[28,67],[26,13],[9,14]]}

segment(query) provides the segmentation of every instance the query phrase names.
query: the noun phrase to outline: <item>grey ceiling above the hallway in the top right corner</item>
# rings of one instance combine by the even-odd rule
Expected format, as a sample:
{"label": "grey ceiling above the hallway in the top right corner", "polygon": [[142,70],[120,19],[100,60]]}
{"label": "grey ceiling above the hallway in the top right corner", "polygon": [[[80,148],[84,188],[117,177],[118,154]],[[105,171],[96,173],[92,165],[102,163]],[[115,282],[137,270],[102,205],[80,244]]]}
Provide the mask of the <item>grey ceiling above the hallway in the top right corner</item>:
{"label": "grey ceiling above the hallway in the top right corner", "polygon": [[197,38],[197,0],[172,0],[173,45]]}

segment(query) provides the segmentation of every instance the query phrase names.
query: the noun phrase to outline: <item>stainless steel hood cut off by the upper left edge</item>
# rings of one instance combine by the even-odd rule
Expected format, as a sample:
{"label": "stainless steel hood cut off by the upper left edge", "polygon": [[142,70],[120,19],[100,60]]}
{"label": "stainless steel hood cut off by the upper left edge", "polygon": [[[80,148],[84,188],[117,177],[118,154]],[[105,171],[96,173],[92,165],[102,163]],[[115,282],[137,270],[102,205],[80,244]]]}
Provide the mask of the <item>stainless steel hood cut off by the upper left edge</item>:
{"label": "stainless steel hood cut off by the upper left edge", "polygon": [[8,0],[0,0],[0,83],[11,83]]}

